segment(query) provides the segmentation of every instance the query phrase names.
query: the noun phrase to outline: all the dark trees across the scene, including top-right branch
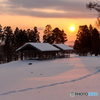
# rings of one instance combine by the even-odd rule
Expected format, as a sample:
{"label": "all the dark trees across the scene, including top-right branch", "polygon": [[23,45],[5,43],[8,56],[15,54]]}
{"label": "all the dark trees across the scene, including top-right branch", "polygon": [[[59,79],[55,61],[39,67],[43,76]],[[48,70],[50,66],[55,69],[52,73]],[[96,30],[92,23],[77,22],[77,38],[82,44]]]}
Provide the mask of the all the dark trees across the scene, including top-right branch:
{"label": "all the dark trees across the scene, including top-right branch", "polygon": [[[86,4],[86,7],[98,12],[95,22],[97,27],[79,25],[73,48],[74,52],[80,56],[87,56],[87,54],[98,56],[100,54],[100,32],[98,30],[100,29],[100,4],[90,2]],[[43,33],[43,41],[40,41],[40,32],[37,27],[34,27],[33,30],[22,30],[18,27],[12,30],[11,26],[2,27],[0,25],[0,63],[16,60],[15,50],[27,42],[54,44],[66,43],[68,40],[64,30],[60,30],[58,27],[52,29],[51,25],[46,25]]]}

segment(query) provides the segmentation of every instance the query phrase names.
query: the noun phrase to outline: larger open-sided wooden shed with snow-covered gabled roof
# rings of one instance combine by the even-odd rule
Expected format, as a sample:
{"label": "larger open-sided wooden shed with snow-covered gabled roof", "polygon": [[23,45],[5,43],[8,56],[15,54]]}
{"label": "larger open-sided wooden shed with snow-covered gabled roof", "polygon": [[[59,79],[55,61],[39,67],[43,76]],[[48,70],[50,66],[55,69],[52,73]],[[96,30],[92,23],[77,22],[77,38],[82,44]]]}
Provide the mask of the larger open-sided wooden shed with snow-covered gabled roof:
{"label": "larger open-sided wooden shed with snow-covered gabled roof", "polygon": [[19,47],[16,52],[20,53],[23,59],[53,59],[60,50],[49,43],[28,42]]}

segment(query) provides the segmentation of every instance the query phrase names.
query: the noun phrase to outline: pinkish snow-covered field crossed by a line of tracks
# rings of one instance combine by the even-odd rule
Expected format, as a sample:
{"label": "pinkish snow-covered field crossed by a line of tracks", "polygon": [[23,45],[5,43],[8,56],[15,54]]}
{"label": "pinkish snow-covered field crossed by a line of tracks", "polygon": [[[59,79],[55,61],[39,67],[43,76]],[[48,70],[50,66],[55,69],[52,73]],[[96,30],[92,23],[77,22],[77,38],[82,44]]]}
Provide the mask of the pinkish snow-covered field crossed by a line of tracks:
{"label": "pinkish snow-covered field crossed by a line of tracks", "polygon": [[[71,91],[98,96],[71,97]],[[100,100],[100,57],[1,64],[0,100]]]}

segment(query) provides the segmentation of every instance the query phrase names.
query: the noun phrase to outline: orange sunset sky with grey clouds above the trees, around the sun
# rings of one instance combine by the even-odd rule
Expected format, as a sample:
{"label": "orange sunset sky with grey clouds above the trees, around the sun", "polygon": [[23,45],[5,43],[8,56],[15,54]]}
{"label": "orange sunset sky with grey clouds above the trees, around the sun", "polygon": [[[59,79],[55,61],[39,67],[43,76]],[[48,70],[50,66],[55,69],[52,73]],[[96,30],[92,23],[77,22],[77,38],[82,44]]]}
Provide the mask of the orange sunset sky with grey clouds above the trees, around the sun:
{"label": "orange sunset sky with grey clouds above the trees, around the sun", "polygon": [[[38,27],[41,40],[47,24],[64,29],[68,41],[74,41],[79,25],[94,26],[97,12],[86,8],[94,0],[0,0],[0,24],[13,30]],[[75,31],[71,32],[70,27]]]}

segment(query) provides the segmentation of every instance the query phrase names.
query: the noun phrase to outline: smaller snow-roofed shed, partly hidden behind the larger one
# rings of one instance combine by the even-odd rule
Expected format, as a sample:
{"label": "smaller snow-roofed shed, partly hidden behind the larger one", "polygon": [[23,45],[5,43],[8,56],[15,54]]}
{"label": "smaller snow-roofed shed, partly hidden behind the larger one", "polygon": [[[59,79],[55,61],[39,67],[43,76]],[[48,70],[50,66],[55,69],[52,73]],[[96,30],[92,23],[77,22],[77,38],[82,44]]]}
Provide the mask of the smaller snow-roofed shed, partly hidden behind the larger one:
{"label": "smaller snow-roofed shed, partly hidden behind the larger one", "polygon": [[60,52],[58,54],[59,57],[70,57],[71,51],[74,49],[67,46],[66,44],[53,44],[56,48],[60,49]]}

